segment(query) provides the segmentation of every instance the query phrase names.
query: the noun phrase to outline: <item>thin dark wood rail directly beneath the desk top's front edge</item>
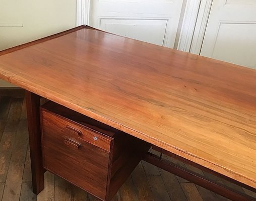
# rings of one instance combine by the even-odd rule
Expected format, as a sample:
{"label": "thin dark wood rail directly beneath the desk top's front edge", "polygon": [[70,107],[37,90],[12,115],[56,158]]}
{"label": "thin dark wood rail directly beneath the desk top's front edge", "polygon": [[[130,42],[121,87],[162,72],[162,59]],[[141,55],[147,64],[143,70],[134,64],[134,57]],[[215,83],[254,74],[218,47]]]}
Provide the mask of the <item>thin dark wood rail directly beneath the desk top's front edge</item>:
{"label": "thin dark wood rail directly beneath the desk top's front edge", "polygon": [[163,154],[165,154],[165,155],[168,155],[168,156],[170,156],[170,157],[172,157],[172,158],[175,158],[175,159],[177,159],[177,160],[180,160],[180,161],[182,161],[182,162],[184,162],[184,163],[186,163],[186,164],[189,164],[189,165],[192,165],[192,166],[194,166],[194,167],[197,167],[198,169],[201,169],[201,170],[203,170],[203,171],[205,171],[205,172],[209,172],[209,173],[211,173],[211,174],[214,174],[215,176],[218,176],[218,177],[220,177],[220,178],[223,178],[223,179],[225,179],[225,180],[228,180],[228,181],[230,181],[230,182],[232,182],[232,183],[234,183],[234,184],[236,184],[236,185],[239,185],[239,186],[241,186],[241,187],[244,187],[244,188],[246,188],[246,189],[248,189],[248,190],[251,190],[251,191],[253,191],[253,192],[256,192],[256,189],[253,188],[253,187],[251,187],[251,186],[248,186],[248,185],[246,185],[246,184],[244,184],[244,183],[241,183],[241,182],[239,182],[239,181],[237,181],[237,180],[234,180],[234,179],[232,179],[232,178],[230,178],[230,177],[227,177],[227,176],[225,176],[225,175],[223,175],[223,174],[220,174],[220,173],[218,173],[218,172],[215,172],[215,171],[213,171],[213,170],[211,170],[211,169],[209,169],[209,168],[207,168],[207,167],[204,167],[204,166],[202,166],[202,165],[199,165],[199,164],[197,164],[197,163],[195,163],[195,162],[192,162],[192,161],[190,161],[190,160],[187,160],[187,159],[185,159],[185,158],[182,158],[181,156],[178,156],[178,155],[176,155],[176,154],[173,154],[173,153],[171,153],[171,152],[169,152],[169,151],[166,151],[166,150],[164,150],[164,149],[162,149],[162,148],[160,148],[160,147],[157,147],[157,146],[153,145],[153,146],[152,146],[152,149],[154,149],[154,150],[156,150],[156,151],[158,151],[158,152],[160,152],[160,153],[163,153]]}

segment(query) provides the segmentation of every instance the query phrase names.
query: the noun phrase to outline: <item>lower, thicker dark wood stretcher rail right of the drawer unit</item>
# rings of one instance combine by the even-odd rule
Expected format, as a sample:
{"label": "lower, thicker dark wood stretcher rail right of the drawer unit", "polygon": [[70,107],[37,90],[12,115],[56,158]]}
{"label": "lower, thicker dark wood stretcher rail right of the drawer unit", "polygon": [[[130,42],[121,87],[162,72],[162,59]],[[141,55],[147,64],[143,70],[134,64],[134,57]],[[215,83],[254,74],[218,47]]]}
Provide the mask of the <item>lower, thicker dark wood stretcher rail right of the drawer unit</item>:
{"label": "lower, thicker dark wood stretcher rail right of the drawer unit", "polygon": [[200,174],[177,166],[176,164],[165,159],[161,159],[160,156],[150,152],[145,155],[143,160],[195,184],[198,184],[204,188],[207,188],[213,192],[216,192],[224,197],[227,197],[233,201],[255,201],[254,197],[251,197],[245,193],[238,192],[228,186],[225,186],[224,184],[218,183],[217,181],[213,181]]}

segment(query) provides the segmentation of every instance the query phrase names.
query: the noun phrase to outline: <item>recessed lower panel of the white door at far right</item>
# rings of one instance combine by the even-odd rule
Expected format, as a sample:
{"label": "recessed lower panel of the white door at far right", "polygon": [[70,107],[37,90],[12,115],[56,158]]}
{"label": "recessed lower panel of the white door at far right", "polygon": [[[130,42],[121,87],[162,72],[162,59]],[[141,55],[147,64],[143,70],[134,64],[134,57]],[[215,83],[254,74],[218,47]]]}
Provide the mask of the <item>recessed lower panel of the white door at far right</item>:
{"label": "recessed lower panel of the white door at far right", "polygon": [[212,57],[256,67],[256,60],[253,58],[256,47],[255,36],[255,23],[221,22]]}

